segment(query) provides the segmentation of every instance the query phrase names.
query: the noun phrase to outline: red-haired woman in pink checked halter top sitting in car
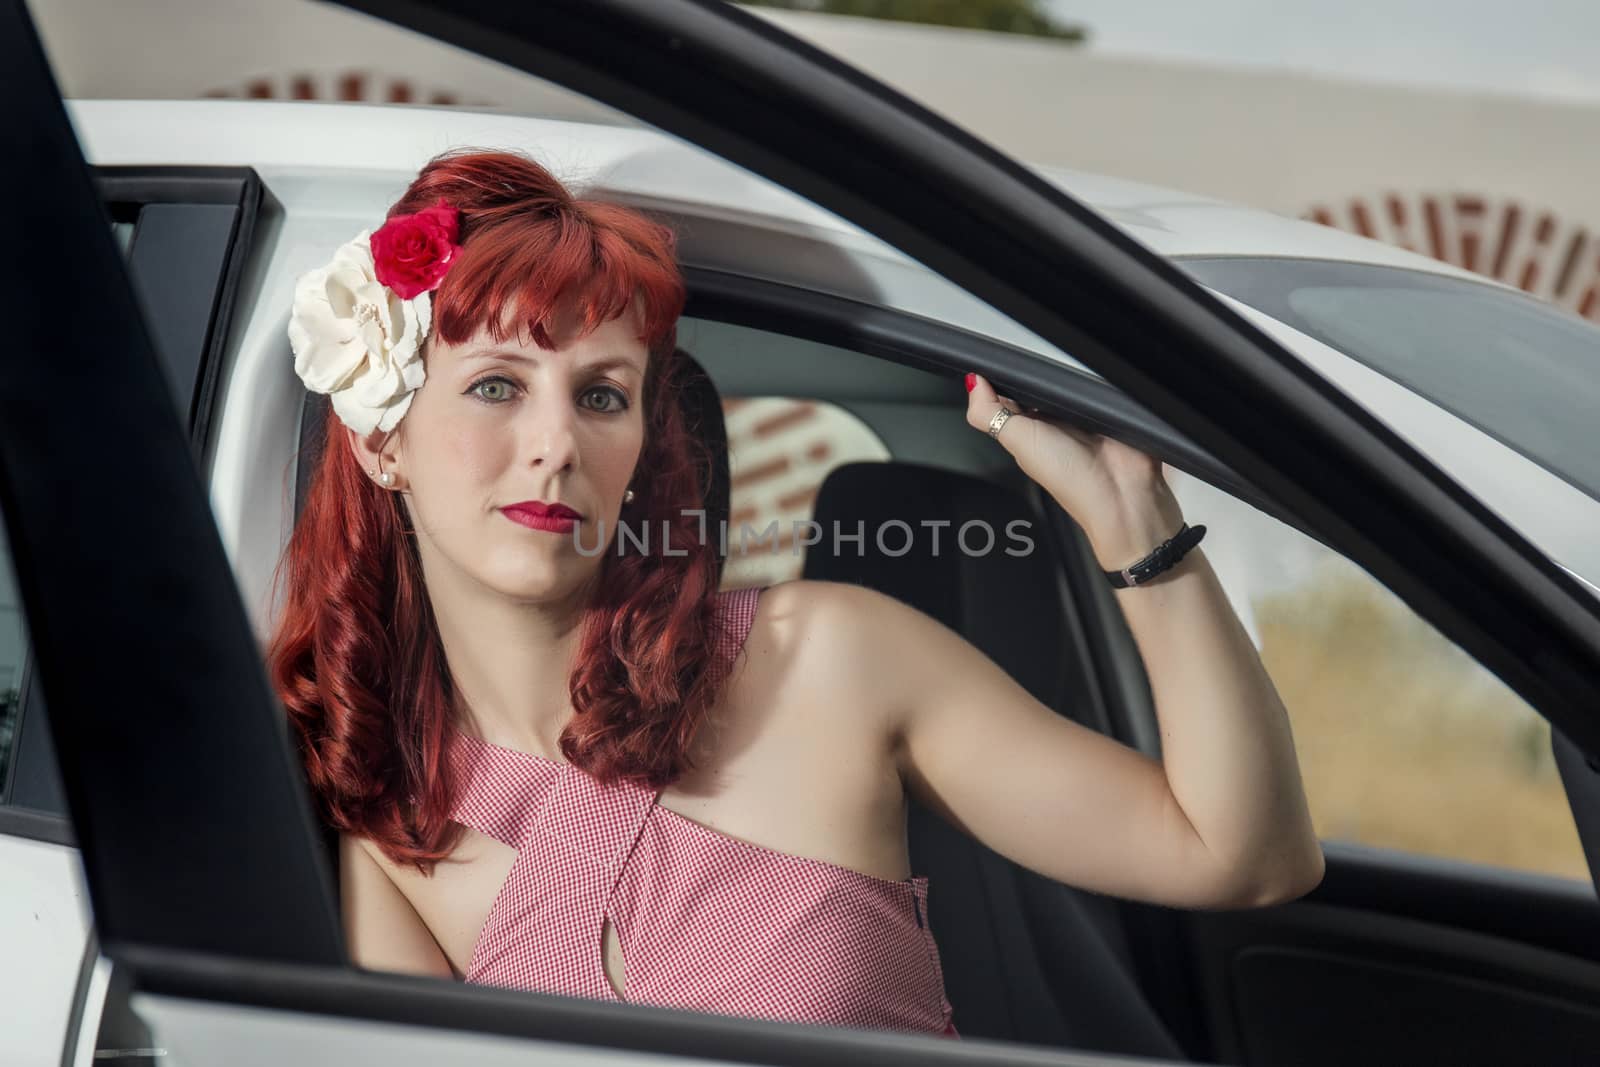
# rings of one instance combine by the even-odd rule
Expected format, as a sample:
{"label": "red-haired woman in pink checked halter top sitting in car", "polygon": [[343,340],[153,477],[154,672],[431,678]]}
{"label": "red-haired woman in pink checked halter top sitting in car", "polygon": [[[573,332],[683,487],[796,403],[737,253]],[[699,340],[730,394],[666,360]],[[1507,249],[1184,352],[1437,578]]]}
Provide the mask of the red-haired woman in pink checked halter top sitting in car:
{"label": "red-haired woman in pink checked halter top sitting in car", "polygon": [[1320,880],[1286,715],[1158,462],[968,374],[968,424],[1106,568],[1163,545],[1118,597],[1165,761],[888,597],[718,593],[682,306],[669,230],[490,152],[430,162],[296,286],[331,414],[270,659],[357,963],[954,1037],[907,787],[1099,893],[1243,907]]}

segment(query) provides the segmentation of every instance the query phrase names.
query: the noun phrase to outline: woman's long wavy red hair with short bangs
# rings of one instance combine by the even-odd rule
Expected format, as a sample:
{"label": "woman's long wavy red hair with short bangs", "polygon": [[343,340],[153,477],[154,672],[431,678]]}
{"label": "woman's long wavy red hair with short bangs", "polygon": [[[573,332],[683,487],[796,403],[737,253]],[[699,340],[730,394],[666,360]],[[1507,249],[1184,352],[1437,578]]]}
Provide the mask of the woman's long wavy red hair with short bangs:
{"label": "woman's long wavy red hair with short bangs", "polygon": [[[688,432],[675,350],[683,280],[666,226],[574,198],[533,160],[454,152],[430,160],[389,216],[443,198],[461,211],[461,251],[434,291],[432,336],[526,330],[576,309],[584,330],[635,314],[650,347],[646,474],[630,506],[667,553],[618,555],[613,534],[570,678],[576,715],[562,753],[602,781],[661,789],[691,769],[690,745],[717,691],[717,555],[699,536],[710,480]],[[267,651],[278,697],[328,825],[373,838],[424,873],[450,854],[456,707],[416,545],[395,494],[373,485],[330,408],[322,458],[280,565],[285,611]],[[682,552],[682,555],[680,555]]]}

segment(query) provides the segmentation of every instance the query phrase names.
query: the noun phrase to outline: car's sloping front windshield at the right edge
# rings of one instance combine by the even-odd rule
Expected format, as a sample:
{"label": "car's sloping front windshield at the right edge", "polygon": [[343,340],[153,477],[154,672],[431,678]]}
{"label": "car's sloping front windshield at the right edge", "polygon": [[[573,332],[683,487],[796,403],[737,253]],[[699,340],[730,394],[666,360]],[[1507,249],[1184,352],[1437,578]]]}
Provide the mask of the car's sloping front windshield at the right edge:
{"label": "car's sloping front windshield at the right edge", "polygon": [[1530,296],[1400,267],[1181,259],[1243,301],[1392,378],[1600,496],[1600,328]]}

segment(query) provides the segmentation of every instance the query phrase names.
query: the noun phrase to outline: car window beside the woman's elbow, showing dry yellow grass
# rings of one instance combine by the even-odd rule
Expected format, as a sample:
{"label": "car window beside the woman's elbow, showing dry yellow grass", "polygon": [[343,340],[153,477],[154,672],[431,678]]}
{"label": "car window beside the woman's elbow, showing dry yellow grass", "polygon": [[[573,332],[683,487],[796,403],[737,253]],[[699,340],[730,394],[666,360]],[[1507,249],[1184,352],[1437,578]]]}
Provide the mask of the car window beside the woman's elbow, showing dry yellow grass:
{"label": "car window beside the woman's elbow, showing dry yellow grass", "polygon": [[1168,478],[1288,709],[1322,838],[1587,880],[1546,718],[1344,557]]}

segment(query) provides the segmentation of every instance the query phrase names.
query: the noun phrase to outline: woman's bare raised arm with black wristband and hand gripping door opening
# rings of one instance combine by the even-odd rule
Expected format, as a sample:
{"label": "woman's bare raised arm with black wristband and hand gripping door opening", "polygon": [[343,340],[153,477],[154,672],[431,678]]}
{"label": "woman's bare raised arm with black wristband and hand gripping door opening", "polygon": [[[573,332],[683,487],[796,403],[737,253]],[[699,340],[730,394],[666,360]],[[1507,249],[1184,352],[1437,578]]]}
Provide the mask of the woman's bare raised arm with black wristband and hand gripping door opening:
{"label": "woman's bare raised arm with black wristband and hand gripping door opening", "polygon": [[[970,381],[968,422],[986,430],[1002,398]],[[1184,522],[1160,462],[1120,442],[1026,414],[998,440],[1083,526],[1106,569]],[[1162,760],[1056,715],[896,600],[843,585],[822,595],[845,601],[832,613],[843,630],[834,654],[877,665],[902,781],[995,851],[1173,907],[1274,904],[1322,880],[1288,713],[1198,549],[1117,592],[1150,678]]]}

